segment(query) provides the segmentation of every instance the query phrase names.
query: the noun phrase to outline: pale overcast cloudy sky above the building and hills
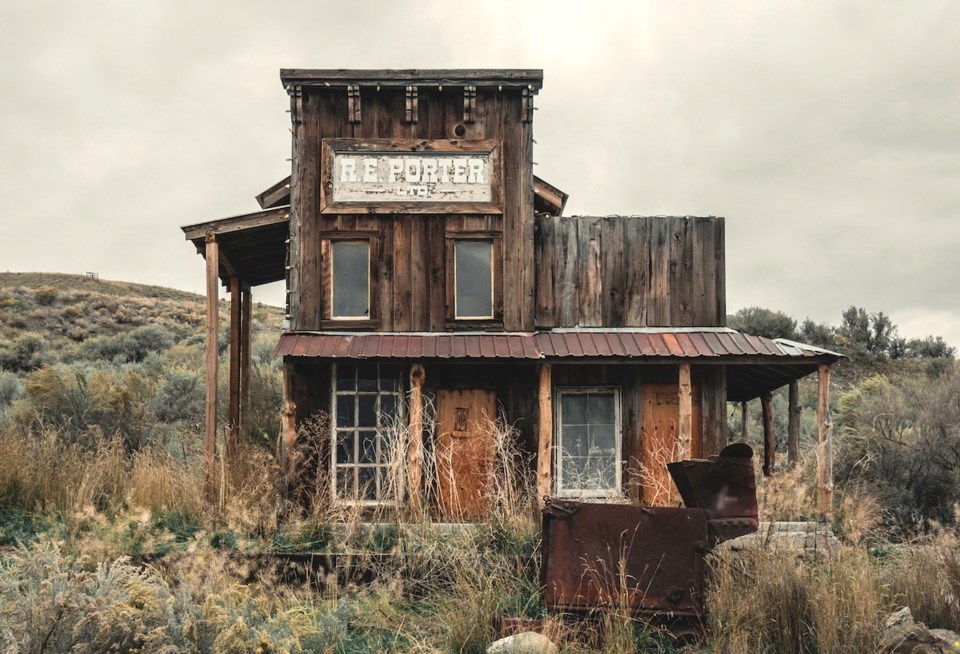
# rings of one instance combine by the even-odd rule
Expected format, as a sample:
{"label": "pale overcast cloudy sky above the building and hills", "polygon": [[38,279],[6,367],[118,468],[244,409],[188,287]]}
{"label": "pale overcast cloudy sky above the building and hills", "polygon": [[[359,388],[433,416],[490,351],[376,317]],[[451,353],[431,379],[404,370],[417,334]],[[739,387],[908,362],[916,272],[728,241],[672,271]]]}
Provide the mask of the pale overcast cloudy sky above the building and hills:
{"label": "pale overcast cloudy sky above the building and hills", "polygon": [[[727,304],[960,346],[960,3],[0,4],[0,270],[201,291],[289,172],[280,68],[542,68],[568,214],[727,220]],[[254,292],[279,302],[281,292]]]}

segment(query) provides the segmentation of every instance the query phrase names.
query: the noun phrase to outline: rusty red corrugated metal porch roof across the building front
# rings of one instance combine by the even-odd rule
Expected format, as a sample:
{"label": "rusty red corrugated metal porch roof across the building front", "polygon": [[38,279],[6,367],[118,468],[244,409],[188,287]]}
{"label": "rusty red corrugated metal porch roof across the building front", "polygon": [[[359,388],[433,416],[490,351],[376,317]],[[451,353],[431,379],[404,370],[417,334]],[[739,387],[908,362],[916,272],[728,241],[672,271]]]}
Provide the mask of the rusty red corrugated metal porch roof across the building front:
{"label": "rusty red corrugated metal porch roof across the building front", "polygon": [[837,359],[812,345],[732,329],[554,330],[538,333],[314,333],[280,337],[276,354],[324,359]]}

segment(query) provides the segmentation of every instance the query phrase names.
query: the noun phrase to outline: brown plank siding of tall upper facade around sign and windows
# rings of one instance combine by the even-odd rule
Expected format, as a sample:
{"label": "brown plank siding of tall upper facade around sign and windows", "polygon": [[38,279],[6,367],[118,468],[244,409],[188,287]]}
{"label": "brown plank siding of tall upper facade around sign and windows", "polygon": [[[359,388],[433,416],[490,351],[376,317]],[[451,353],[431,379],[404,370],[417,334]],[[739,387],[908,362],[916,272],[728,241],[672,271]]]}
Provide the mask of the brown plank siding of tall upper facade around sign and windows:
{"label": "brown plank siding of tall upper facade around sign and windows", "polygon": [[[459,232],[489,232],[502,239],[502,326],[531,330],[533,290],[532,123],[523,121],[522,91],[478,87],[473,121],[464,120],[462,87],[421,86],[417,120],[406,120],[403,87],[361,86],[360,122],[351,122],[342,88],[293,87],[291,178],[290,327],[324,324],[329,286],[324,239],[366,233],[377,239],[372,262],[374,321],[382,331],[444,331],[448,277],[445,241]],[[324,138],[502,140],[503,214],[322,214],[320,156]],[[465,325],[466,327],[466,325]],[[473,325],[472,328],[476,328]]]}

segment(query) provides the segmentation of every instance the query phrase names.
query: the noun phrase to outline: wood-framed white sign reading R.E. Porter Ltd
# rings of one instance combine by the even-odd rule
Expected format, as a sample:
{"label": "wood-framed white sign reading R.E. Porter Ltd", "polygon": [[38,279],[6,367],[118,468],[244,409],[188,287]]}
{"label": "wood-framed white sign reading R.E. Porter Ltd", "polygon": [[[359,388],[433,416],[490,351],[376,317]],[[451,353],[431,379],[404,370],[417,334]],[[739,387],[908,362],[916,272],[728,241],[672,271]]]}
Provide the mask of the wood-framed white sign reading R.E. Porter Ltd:
{"label": "wood-framed white sign reading R.E. Porter Ltd", "polygon": [[502,213],[500,141],[324,139],[322,213]]}

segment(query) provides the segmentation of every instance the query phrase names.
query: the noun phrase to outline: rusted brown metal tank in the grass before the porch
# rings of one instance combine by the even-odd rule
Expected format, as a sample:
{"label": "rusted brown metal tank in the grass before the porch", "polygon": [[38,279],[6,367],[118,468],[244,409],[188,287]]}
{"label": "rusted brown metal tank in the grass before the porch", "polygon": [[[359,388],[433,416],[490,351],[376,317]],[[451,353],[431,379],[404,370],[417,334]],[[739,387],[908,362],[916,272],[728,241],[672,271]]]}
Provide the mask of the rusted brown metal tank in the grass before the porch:
{"label": "rusted brown metal tank in the grass before the porch", "polygon": [[758,528],[753,450],[735,443],[667,467],[683,508],[546,501],[540,581],[548,609],[703,615],[704,556]]}

